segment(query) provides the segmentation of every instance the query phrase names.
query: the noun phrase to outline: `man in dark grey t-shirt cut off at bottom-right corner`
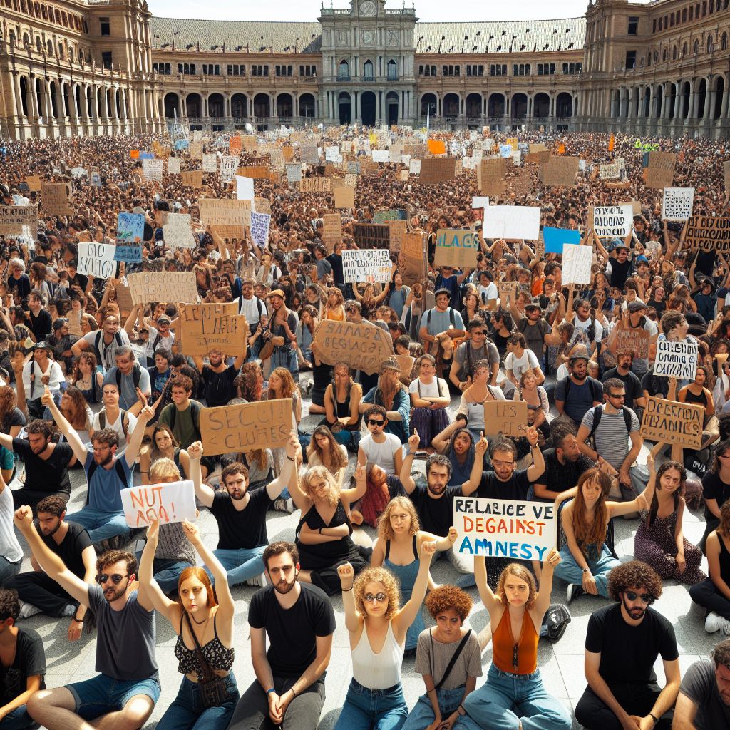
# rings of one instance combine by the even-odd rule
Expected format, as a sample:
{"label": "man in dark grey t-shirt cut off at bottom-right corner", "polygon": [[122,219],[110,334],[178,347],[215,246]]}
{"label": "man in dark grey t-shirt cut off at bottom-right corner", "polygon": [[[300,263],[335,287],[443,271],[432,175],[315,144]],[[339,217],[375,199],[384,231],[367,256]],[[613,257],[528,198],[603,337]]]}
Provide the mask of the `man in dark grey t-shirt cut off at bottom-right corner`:
{"label": "man in dark grey t-shirt cut off at bottom-right corner", "polygon": [[696,730],[730,727],[730,639],[685,672],[675,709],[675,726]]}

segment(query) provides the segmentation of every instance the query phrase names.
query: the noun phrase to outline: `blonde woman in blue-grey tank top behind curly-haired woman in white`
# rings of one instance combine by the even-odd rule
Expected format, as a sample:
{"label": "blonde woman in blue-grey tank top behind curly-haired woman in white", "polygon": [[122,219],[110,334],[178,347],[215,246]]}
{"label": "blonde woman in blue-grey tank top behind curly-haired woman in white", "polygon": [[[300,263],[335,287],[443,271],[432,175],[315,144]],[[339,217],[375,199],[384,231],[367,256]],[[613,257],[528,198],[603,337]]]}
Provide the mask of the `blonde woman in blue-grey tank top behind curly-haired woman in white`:
{"label": "blonde woman in blue-grey tank top behind curly-haired woman in white", "polygon": [[[401,587],[401,604],[410,601],[415,581],[420,570],[420,548],[424,542],[436,542],[439,551],[448,550],[456,542],[456,529],[449,529],[447,537],[439,538],[420,529],[418,514],[413,503],[404,496],[396,496],[388,502],[377,523],[377,542],[372,551],[370,564],[385,566]],[[426,629],[423,613],[416,612],[413,623],[408,627],[405,650],[415,653],[420,632]]]}

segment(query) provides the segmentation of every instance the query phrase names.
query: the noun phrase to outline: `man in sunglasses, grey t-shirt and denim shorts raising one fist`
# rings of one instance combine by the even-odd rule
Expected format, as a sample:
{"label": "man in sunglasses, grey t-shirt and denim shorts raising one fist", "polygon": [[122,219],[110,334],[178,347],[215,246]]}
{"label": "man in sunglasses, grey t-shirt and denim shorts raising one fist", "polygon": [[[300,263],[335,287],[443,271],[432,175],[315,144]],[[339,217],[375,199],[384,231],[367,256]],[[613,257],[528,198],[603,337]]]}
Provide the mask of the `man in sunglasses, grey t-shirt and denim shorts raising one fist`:
{"label": "man in sunglasses, grey t-shirt and denim shorts raising one fist", "polygon": [[95,677],[41,690],[28,700],[28,713],[48,730],[88,727],[115,714],[119,728],[141,728],[160,697],[155,658],[155,611],[145,585],[135,588],[137,558],[107,550],[96,560],[96,579],[86,583],[45,545],[28,505],[15,512],[15,526],[41,568],[96,615]]}

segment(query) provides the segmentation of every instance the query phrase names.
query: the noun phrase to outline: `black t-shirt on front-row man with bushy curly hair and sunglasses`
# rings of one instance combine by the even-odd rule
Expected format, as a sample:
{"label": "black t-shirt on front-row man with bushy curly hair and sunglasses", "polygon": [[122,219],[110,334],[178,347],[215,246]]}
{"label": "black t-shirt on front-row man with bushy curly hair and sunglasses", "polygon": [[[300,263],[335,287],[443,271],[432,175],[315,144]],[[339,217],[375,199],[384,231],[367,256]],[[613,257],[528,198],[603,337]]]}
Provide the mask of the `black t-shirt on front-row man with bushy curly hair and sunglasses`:
{"label": "black t-shirt on front-row man with bushy curly hair and sunglasses", "polygon": [[601,655],[599,674],[607,682],[648,685],[656,682],[656,656],[674,661],[678,656],[672,624],[652,608],[639,626],[629,626],[615,603],[593,611],[588,619],[585,650]]}

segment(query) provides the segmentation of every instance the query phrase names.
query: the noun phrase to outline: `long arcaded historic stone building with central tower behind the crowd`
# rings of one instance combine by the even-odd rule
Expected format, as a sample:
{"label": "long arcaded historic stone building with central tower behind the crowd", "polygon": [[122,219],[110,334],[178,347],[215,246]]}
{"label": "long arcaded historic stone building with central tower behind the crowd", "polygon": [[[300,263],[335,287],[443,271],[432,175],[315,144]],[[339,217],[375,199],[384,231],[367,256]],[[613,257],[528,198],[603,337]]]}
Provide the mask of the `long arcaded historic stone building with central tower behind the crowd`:
{"label": "long arcaded historic stone building with central tower behind the crowd", "polygon": [[145,0],[0,0],[0,137],[402,123],[726,136],[730,0],[420,23],[350,0],[311,23],[153,18]]}

